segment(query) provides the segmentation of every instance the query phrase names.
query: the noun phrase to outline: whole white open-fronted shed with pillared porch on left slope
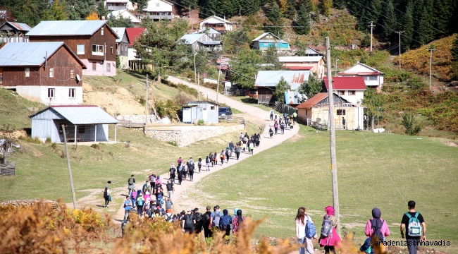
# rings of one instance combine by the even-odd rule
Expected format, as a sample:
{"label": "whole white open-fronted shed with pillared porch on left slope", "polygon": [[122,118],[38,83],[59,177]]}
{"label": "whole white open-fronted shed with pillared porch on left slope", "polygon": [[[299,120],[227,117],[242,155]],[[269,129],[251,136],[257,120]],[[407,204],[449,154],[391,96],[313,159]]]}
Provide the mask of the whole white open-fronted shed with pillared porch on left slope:
{"label": "whole white open-fronted shed with pillared porch on left slope", "polygon": [[51,106],[29,116],[32,138],[63,143],[62,125],[66,126],[67,142],[104,142],[109,140],[109,124],[118,121],[97,106]]}

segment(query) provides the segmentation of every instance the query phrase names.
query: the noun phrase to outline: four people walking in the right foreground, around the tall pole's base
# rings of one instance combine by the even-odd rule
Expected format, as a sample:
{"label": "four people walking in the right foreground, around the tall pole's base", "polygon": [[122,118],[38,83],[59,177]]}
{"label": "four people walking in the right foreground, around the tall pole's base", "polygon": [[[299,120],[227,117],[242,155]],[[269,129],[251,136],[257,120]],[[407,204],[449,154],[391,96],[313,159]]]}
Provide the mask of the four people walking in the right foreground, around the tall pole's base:
{"label": "four people walking in the right foreground, around the tall pole's base", "polygon": [[[426,241],[426,224],[423,216],[419,212],[416,212],[415,205],[416,203],[413,200],[407,203],[409,212],[404,213],[400,226],[401,237],[406,238],[405,244],[401,243],[400,245],[407,246],[409,254],[416,254],[420,246],[420,241]],[[335,217],[334,207],[327,206],[325,212],[321,231],[317,234],[315,225],[305,208],[299,207],[297,210],[295,224],[297,243],[299,243],[299,254],[313,254],[314,246],[312,238],[317,238],[318,236],[318,243],[321,248],[324,248],[325,254],[331,252],[335,254],[335,248],[339,247],[342,240],[336,231],[337,218]],[[381,216],[382,212],[380,209],[377,207],[373,208],[372,219],[367,221],[364,230],[367,238],[360,248],[361,252],[368,254],[374,253],[373,246],[383,246],[386,243],[386,237],[390,236],[388,224]]]}

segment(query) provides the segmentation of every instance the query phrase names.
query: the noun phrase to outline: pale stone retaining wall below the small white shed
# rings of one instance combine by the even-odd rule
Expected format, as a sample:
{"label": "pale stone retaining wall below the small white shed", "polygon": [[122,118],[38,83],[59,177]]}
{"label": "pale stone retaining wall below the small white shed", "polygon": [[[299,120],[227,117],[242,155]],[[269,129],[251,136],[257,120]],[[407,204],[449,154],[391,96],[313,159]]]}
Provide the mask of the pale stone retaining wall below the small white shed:
{"label": "pale stone retaining wall below the small white shed", "polygon": [[176,126],[176,127],[149,127],[147,136],[156,138],[163,142],[173,143],[179,147],[191,145],[192,143],[213,138],[225,133],[241,131],[243,124],[236,126]]}

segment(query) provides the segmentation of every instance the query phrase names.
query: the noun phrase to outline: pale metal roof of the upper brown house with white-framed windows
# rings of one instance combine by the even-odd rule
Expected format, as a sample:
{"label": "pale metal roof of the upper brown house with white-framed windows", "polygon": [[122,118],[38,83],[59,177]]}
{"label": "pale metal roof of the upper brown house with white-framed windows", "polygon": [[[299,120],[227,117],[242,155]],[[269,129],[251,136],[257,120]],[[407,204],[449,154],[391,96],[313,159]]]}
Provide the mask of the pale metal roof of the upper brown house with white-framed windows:
{"label": "pale metal roof of the upper brown house with white-framed windows", "polygon": [[[42,21],[26,36],[63,36],[63,35],[94,35],[108,20],[56,20]],[[109,27],[111,30],[111,28]],[[111,30],[114,35],[116,32]],[[117,36],[117,35],[116,35]]]}

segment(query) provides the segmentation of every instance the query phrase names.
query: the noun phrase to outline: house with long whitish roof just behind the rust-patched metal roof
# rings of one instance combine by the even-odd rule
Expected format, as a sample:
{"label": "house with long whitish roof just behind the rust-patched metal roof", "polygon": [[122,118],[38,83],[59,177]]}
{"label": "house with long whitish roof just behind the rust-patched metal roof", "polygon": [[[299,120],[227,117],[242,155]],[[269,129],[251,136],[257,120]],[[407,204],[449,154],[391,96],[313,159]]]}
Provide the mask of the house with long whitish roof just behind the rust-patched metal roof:
{"label": "house with long whitish roof just behind the rust-patched metal roof", "polygon": [[321,79],[324,75],[323,56],[279,56],[278,61],[290,70],[309,70]]}

